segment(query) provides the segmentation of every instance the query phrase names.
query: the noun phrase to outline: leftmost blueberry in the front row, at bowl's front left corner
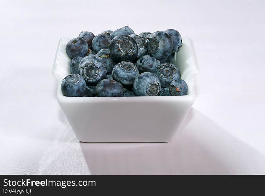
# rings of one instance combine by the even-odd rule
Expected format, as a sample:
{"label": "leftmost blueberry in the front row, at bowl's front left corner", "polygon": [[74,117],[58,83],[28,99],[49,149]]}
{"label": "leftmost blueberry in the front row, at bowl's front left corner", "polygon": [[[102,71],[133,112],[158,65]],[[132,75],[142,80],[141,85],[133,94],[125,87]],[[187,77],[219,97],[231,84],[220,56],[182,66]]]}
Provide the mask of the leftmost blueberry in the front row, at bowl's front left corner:
{"label": "leftmost blueberry in the front row, at bowl's front left corner", "polygon": [[86,92],[86,81],[79,74],[70,74],[62,81],[61,90],[66,97],[83,97]]}

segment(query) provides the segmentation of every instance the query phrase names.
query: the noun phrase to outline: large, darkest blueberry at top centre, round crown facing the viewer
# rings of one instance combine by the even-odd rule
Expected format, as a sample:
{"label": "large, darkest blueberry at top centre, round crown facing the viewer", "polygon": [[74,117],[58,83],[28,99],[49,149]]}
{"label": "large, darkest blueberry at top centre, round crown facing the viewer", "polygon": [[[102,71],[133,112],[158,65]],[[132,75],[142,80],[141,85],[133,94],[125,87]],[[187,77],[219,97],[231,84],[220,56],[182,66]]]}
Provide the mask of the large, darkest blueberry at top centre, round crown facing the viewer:
{"label": "large, darkest blueberry at top centre, round crown facing the viewer", "polygon": [[113,38],[109,50],[115,62],[133,61],[138,53],[136,41],[128,35],[118,35]]}

